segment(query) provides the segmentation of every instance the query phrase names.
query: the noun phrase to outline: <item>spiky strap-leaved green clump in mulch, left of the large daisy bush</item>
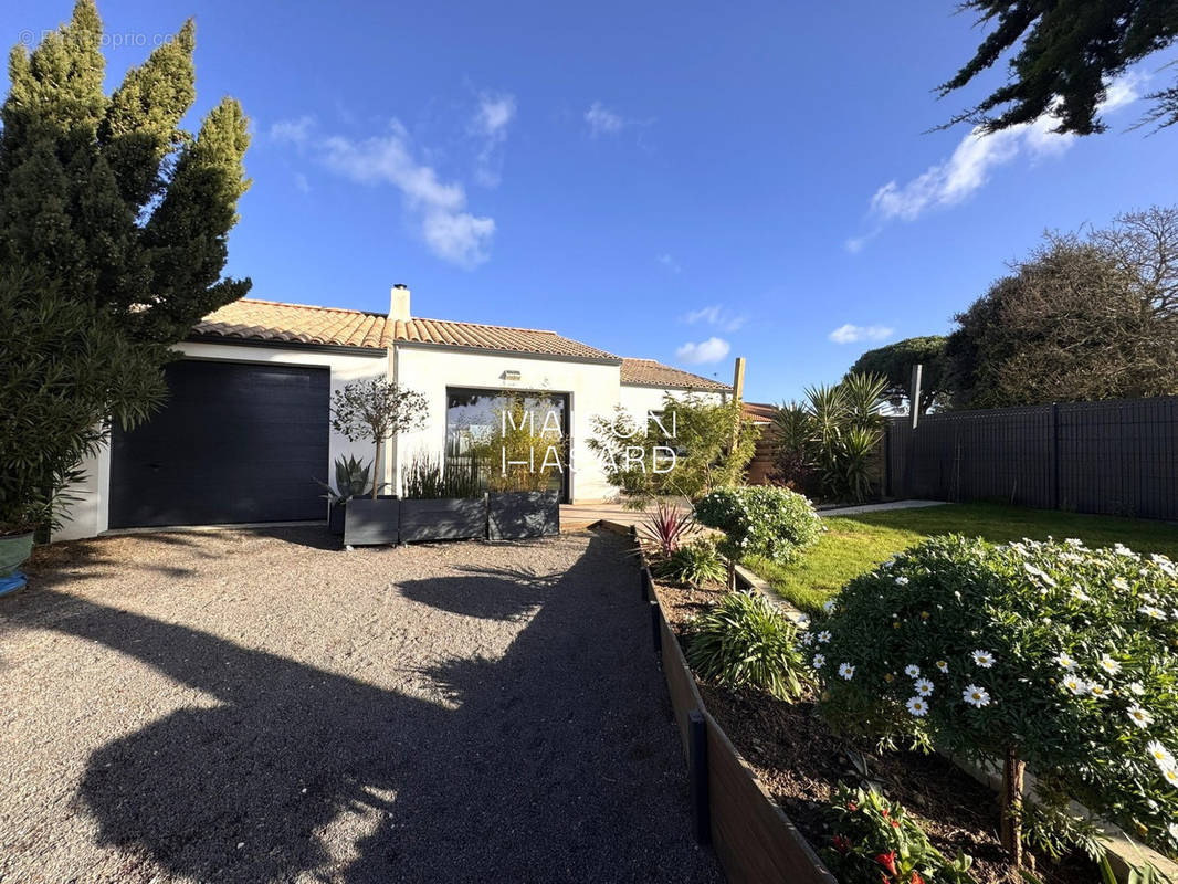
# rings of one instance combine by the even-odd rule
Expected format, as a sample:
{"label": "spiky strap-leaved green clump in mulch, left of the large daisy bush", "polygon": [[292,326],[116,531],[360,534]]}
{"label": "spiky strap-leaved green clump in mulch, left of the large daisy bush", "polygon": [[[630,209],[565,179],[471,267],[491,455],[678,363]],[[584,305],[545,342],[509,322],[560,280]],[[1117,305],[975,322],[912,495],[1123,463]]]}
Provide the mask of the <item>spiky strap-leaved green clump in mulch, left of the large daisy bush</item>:
{"label": "spiky strap-leaved green clump in mulch, left of the large daisy bush", "polygon": [[796,631],[760,593],[728,593],[691,622],[687,661],[727,687],[757,687],[789,700],[808,684]]}

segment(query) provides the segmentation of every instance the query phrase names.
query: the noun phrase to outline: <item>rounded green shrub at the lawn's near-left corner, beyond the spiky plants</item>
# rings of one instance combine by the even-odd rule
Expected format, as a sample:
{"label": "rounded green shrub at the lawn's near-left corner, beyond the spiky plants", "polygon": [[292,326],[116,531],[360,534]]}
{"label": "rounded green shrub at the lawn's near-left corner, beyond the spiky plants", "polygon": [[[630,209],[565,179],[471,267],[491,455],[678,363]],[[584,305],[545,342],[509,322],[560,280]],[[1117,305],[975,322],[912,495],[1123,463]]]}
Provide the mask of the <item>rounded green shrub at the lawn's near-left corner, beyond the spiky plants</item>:
{"label": "rounded green shrub at the lawn's near-left corner, beyond the spiky plants", "polygon": [[793,561],[822,533],[822,520],[805,496],[773,486],[719,488],[695,506],[695,516],[724,533],[720,552],[734,561],[746,555]]}

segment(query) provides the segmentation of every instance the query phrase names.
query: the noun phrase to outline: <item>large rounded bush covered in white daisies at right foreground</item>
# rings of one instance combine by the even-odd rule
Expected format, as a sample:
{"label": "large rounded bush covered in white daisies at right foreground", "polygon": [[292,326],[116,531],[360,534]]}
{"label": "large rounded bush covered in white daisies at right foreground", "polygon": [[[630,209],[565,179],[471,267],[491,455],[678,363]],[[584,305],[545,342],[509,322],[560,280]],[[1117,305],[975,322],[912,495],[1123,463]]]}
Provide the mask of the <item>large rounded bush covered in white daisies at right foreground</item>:
{"label": "large rounded bush covered in white daisies at right foreground", "polygon": [[802,644],[836,724],[1018,759],[1046,807],[1070,796],[1173,856],[1176,576],[1123,546],[933,537],[851,581]]}

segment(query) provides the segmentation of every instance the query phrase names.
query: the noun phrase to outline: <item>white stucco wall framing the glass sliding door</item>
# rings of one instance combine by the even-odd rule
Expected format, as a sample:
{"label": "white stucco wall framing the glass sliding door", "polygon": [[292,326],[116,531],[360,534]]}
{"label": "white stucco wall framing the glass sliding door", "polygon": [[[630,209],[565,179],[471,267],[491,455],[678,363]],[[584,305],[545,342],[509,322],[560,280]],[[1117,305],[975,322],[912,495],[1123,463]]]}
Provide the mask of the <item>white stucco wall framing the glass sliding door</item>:
{"label": "white stucco wall framing the glass sliding door", "polygon": [[[587,440],[593,433],[594,415],[608,418],[618,403],[618,365],[406,344],[397,344],[393,362],[397,382],[424,394],[430,403],[426,427],[396,441],[399,463],[408,463],[417,453],[443,453],[448,387],[563,392],[569,396],[575,468],[569,484],[573,502],[602,501],[615,494]],[[518,371],[519,380],[504,381],[505,371]],[[399,487],[399,475],[397,481]]]}

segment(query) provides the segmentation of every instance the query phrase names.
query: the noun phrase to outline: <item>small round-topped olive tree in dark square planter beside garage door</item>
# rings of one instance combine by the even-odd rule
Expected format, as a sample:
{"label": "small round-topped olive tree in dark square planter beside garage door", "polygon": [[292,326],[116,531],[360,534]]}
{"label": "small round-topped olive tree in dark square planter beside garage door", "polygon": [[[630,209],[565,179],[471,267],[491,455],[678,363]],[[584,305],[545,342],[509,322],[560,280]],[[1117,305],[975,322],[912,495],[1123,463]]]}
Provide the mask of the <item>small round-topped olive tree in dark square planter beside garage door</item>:
{"label": "small round-topped olive tree in dark square planter beside garage door", "polygon": [[372,492],[368,500],[355,497],[346,507],[344,542],[349,546],[396,543],[399,539],[401,501],[382,497],[385,443],[398,433],[425,425],[425,397],[389,381],[355,381],[332,394],[331,427],[352,442],[376,448],[372,460]]}

